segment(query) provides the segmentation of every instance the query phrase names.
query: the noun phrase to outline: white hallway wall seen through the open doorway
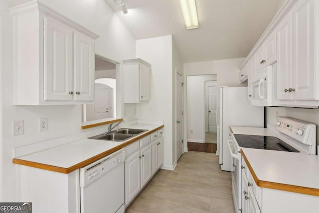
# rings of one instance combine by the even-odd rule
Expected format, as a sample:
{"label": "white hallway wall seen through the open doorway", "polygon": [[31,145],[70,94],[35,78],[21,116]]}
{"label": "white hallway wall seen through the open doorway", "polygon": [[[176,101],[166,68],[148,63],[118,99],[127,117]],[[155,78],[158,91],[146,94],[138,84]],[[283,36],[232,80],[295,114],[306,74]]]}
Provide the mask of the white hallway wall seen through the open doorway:
{"label": "white hallway wall seen through the open doorway", "polygon": [[187,142],[205,142],[205,81],[216,75],[187,76]]}

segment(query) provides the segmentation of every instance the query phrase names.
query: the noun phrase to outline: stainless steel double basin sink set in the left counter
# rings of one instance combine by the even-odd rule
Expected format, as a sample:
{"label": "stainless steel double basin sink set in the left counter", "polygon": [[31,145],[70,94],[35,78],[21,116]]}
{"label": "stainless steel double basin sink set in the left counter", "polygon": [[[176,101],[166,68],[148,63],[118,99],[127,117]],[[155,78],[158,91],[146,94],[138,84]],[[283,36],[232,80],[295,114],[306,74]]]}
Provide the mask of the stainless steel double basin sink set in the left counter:
{"label": "stainless steel double basin sink set in the left counter", "polygon": [[133,138],[137,135],[140,135],[146,131],[148,131],[148,130],[122,128],[122,129],[119,129],[117,131],[112,131],[109,133],[103,133],[100,135],[96,135],[96,136],[90,137],[89,139],[122,142],[122,141],[128,140],[130,138]]}

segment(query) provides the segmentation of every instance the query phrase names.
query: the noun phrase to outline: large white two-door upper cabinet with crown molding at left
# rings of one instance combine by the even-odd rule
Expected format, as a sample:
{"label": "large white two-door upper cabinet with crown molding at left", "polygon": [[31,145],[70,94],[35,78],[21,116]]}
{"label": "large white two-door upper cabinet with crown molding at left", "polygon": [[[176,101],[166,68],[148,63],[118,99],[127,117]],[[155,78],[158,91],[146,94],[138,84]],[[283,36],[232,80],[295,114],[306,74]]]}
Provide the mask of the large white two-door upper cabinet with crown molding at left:
{"label": "large white two-door upper cabinet with crown molding at left", "polygon": [[31,1],[13,15],[13,104],[94,101],[96,34],[44,4]]}

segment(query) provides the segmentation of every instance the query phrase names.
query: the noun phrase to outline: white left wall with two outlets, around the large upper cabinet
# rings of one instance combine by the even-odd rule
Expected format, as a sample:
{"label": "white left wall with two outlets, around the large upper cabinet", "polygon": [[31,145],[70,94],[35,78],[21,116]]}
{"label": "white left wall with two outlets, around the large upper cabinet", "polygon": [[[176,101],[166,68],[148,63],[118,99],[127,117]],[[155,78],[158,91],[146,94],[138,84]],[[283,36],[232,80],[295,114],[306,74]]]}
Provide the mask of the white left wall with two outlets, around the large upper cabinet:
{"label": "white left wall with two outlets, around the large upper cabinet", "polygon": [[[7,8],[27,0],[1,0],[2,18],[2,102],[0,135],[2,146],[0,162],[1,201],[14,201],[15,167],[12,164],[14,147],[38,143],[49,139],[74,135],[81,132],[81,106],[13,106],[12,105],[12,17]],[[96,53],[115,61],[136,57],[136,43],[133,35],[115,16],[105,0],[40,0],[68,18],[100,35],[96,41]],[[32,82],[30,82],[32,83]],[[38,132],[38,119],[47,117],[49,129]],[[24,120],[24,135],[11,136],[11,122]],[[1,132],[0,132],[1,133]],[[0,146],[0,147],[1,147]],[[2,175],[2,174],[5,174]],[[1,180],[2,179],[2,180]],[[5,183],[5,184],[3,184]]]}

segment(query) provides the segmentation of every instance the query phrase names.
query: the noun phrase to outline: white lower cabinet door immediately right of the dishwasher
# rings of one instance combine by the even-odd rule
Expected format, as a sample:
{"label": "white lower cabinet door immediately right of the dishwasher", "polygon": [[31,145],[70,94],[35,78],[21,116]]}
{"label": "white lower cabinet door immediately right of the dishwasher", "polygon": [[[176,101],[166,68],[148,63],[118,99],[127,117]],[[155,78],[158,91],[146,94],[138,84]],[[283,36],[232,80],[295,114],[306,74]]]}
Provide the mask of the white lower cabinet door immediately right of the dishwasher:
{"label": "white lower cabinet door immediately right of the dishwasher", "polygon": [[128,205],[141,189],[140,151],[125,161],[125,205]]}

